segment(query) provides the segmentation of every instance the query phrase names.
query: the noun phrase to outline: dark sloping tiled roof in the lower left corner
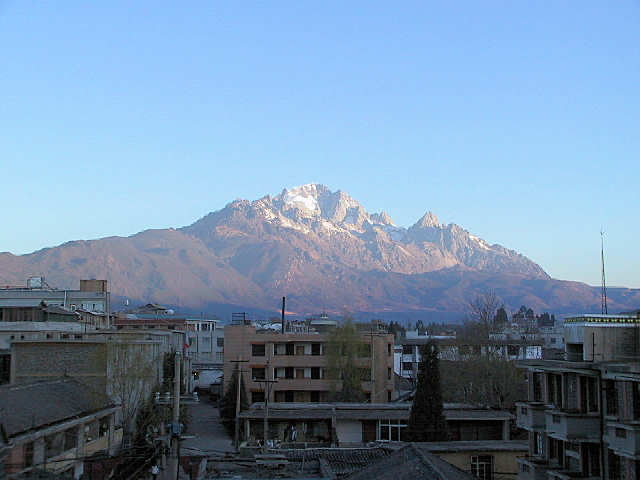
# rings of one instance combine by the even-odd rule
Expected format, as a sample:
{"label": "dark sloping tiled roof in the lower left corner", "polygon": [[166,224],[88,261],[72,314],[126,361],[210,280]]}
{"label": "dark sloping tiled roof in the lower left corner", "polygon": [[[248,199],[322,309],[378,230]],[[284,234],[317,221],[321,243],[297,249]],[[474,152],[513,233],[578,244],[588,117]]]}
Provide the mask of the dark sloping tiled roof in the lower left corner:
{"label": "dark sloping tiled roof in the lower left corner", "polygon": [[9,437],[111,407],[71,378],[0,386],[0,419]]}

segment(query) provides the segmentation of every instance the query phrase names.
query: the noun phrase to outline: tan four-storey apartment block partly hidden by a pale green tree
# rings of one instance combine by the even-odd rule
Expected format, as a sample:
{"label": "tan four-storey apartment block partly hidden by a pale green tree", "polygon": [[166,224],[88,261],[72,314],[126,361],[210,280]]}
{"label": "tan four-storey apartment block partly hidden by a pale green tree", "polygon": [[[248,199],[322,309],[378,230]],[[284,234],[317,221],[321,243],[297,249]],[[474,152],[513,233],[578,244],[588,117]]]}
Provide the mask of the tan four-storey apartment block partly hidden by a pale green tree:
{"label": "tan four-storey apartment block partly hidden by a pale green tree", "polygon": [[[265,383],[259,380],[277,380],[269,395],[270,402],[326,402],[331,382],[327,378],[325,355],[326,332],[336,322],[319,319],[305,324],[289,325],[286,332],[260,329],[244,321],[225,327],[224,388],[231,382],[235,360],[248,360],[242,364],[247,372],[243,379],[249,401],[264,401]],[[362,326],[362,341],[368,348],[358,366],[362,369],[362,388],[370,402],[390,402],[393,399],[393,335],[377,324]]]}

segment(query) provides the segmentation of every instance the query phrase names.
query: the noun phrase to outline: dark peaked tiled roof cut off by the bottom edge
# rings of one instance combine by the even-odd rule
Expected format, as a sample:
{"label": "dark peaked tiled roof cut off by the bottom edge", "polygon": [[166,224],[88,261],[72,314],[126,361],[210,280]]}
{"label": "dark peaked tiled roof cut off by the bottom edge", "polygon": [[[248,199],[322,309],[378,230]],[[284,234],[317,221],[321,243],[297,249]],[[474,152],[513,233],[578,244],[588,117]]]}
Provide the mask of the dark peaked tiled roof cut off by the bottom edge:
{"label": "dark peaked tiled roof cut off by the bottom edge", "polygon": [[347,480],[473,480],[475,477],[415,445],[346,477]]}

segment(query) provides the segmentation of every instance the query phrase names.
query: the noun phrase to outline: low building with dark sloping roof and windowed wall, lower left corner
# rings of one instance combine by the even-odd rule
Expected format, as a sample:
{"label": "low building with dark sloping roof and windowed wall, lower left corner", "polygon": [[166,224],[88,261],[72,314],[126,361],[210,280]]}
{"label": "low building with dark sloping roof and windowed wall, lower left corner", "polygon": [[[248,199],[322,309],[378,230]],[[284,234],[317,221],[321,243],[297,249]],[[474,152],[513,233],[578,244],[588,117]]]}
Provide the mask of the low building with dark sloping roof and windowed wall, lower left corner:
{"label": "low building with dark sloping roof and windowed wall, lower left corner", "polygon": [[122,439],[113,402],[71,378],[4,385],[0,412],[8,475],[39,470],[80,478],[86,458],[113,454]]}

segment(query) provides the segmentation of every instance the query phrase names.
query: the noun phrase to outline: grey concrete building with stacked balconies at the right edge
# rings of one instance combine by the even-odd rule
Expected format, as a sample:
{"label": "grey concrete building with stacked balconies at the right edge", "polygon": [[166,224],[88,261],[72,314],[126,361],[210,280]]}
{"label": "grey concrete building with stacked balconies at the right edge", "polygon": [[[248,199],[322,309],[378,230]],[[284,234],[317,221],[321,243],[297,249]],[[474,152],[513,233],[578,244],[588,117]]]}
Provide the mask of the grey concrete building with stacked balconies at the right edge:
{"label": "grey concrete building with stacked balconies at the right edge", "polygon": [[529,434],[521,480],[640,478],[640,315],[564,322],[564,359],[521,362]]}

